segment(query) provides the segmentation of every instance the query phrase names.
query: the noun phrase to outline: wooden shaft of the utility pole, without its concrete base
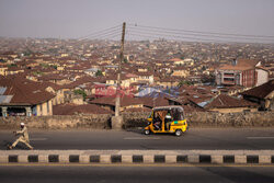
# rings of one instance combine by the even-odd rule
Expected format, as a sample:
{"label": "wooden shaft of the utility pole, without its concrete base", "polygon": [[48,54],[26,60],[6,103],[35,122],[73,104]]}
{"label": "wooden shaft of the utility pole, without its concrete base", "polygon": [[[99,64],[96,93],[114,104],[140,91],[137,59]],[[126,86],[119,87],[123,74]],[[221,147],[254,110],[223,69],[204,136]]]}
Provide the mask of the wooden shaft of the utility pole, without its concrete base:
{"label": "wooden shaft of the utility pole, without its concrete base", "polygon": [[118,64],[118,76],[117,76],[117,88],[116,88],[116,100],[115,100],[115,116],[119,116],[121,106],[121,65],[124,60],[124,43],[125,43],[125,30],[126,23],[123,23],[123,32],[121,39],[121,50],[119,50],[119,64]]}

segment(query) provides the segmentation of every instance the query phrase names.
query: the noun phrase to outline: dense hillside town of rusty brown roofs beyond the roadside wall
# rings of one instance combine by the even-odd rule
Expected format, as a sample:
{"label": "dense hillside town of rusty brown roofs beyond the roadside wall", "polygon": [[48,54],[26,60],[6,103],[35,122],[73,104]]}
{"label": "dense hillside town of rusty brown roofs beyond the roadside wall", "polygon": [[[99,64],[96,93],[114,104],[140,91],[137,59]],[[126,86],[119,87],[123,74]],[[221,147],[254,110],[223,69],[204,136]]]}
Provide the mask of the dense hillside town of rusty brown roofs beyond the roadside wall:
{"label": "dense hillside town of rusty brown roofs beyond the roadside wall", "polygon": [[[1,115],[114,113],[119,49],[111,39],[1,37]],[[273,44],[126,41],[121,111],[169,104],[210,111],[219,94],[230,101],[222,107],[236,100],[233,107],[265,110],[240,93],[273,79]]]}

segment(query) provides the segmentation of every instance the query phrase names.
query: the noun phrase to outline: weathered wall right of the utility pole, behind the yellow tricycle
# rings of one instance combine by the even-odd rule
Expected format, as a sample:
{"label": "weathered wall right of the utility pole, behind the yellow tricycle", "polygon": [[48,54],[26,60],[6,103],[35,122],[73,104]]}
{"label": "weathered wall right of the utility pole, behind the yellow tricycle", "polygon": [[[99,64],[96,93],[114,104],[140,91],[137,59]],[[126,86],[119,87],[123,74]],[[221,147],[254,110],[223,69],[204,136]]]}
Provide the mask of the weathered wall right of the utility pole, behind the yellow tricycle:
{"label": "weathered wall right of the utility pole, behind the yellow tricycle", "polygon": [[[124,114],[124,126],[144,127],[150,113]],[[186,114],[191,127],[274,127],[274,112],[214,113],[198,112]]]}

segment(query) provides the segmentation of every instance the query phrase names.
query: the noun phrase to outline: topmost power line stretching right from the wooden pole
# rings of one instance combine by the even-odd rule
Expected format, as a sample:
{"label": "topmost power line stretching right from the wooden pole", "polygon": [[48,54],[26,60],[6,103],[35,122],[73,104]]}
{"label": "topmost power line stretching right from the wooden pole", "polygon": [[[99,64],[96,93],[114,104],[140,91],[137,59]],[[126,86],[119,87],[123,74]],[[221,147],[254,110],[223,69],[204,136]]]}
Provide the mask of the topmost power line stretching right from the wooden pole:
{"label": "topmost power line stretching right from the wooden pole", "polygon": [[193,31],[193,30],[179,30],[179,28],[167,28],[167,27],[159,27],[159,26],[148,26],[148,25],[139,25],[139,24],[132,24],[128,25],[135,27],[144,27],[144,28],[153,28],[153,30],[163,30],[163,31],[172,31],[172,32],[186,32],[186,33],[194,33],[194,34],[209,34],[209,35],[224,35],[224,36],[242,36],[242,37],[261,37],[261,38],[274,38],[272,35],[251,35],[251,34],[231,34],[231,33],[218,33],[218,32],[202,32],[202,31]]}

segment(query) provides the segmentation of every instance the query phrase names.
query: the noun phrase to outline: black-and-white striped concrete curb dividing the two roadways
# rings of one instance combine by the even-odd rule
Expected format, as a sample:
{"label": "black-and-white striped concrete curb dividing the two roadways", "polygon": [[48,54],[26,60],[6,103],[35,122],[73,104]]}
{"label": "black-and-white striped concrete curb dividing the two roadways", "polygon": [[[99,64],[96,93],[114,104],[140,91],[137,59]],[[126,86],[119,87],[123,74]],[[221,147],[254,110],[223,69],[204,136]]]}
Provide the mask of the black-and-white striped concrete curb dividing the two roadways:
{"label": "black-and-white striped concrete curb dividing the two roadways", "polygon": [[0,163],[274,164],[274,150],[18,150],[0,151]]}

